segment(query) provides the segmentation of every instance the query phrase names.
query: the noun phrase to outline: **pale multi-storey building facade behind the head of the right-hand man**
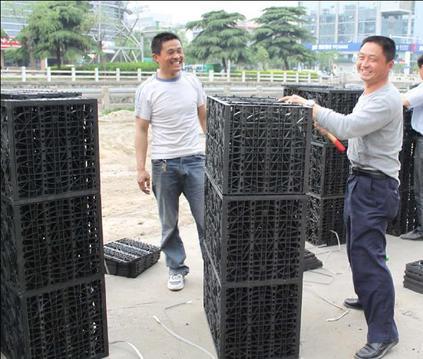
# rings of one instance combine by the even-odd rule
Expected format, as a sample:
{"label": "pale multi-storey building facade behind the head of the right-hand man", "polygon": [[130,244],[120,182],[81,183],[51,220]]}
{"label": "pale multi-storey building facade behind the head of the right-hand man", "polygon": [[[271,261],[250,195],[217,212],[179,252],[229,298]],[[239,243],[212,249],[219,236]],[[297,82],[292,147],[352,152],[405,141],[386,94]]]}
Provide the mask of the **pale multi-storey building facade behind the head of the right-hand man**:
{"label": "pale multi-storey building facade behind the head of the right-hand man", "polygon": [[[423,53],[423,5],[419,1],[299,1],[307,10],[305,27],[316,38],[306,46],[315,51],[336,51],[338,70],[352,67],[361,41],[384,35],[397,44],[397,62],[407,72]],[[420,22],[421,24],[421,22]],[[422,26],[420,26],[422,27]]]}

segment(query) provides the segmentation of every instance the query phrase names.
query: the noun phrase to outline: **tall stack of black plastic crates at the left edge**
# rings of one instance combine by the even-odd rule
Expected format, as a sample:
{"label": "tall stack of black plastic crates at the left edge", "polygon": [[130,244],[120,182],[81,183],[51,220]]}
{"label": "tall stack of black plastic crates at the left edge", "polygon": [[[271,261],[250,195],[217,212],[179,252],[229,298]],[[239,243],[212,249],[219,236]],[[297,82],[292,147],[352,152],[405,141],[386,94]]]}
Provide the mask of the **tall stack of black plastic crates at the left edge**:
{"label": "tall stack of black plastic crates at the left edge", "polygon": [[108,355],[97,101],[1,97],[1,349]]}

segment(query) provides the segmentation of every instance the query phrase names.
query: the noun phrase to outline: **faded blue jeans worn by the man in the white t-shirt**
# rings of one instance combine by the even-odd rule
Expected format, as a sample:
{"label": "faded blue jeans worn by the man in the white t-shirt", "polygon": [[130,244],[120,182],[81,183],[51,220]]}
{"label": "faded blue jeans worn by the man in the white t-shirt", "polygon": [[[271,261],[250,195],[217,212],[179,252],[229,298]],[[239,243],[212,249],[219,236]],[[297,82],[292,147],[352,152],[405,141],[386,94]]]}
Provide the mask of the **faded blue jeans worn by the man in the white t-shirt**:
{"label": "faded blue jeans worn by the man in the white t-shirt", "polygon": [[186,254],[179,236],[179,197],[184,194],[197,225],[200,248],[204,239],[204,155],[152,160],[152,189],[162,225],[161,249],[170,274],[188,274]]}

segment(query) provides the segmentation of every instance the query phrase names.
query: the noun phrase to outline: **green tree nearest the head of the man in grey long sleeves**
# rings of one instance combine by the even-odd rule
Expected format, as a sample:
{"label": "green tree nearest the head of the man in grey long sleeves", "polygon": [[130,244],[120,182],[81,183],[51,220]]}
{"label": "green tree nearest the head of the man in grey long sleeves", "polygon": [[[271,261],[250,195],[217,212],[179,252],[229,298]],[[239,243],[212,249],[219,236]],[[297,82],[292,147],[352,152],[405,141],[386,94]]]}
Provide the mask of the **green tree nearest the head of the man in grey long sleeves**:
{"label": "green tree nearest the head of the man in grey long sleeves", "polygon": [[279,60],[289,68],[289,60],[306,62],[314,57],[313,53],[302,45],[312,41],[313,37],[302,27],[306,11],[304,7],[270,7],[256,19],[260,24],[255,30],[256,44],[263,46],[273,60]]}

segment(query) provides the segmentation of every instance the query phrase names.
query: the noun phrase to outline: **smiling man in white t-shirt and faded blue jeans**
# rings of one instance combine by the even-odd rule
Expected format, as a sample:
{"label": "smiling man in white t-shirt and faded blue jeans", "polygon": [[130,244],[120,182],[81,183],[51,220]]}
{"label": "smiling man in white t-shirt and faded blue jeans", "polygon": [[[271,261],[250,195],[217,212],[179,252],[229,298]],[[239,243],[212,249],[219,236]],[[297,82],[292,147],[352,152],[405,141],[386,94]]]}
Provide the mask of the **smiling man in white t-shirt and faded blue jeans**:
{"label": "smiling man in white t-shirt and faded blue jeans", "polygon": [[169,267],[168,288],[181,290],[189,272],[178,229],[182,193],[195,219],[200,247],[204,238],[205,156],[198,124],[205,133],[205,95],[198,78],[182,72],[184,53],[175,34],[156,35],[151,50],[159,70],[138,87],[135,95],[137,181],[141,191],[149,194],[150,174],[145,162],[151,126],[151,187],[162,225],[161,249]]}

